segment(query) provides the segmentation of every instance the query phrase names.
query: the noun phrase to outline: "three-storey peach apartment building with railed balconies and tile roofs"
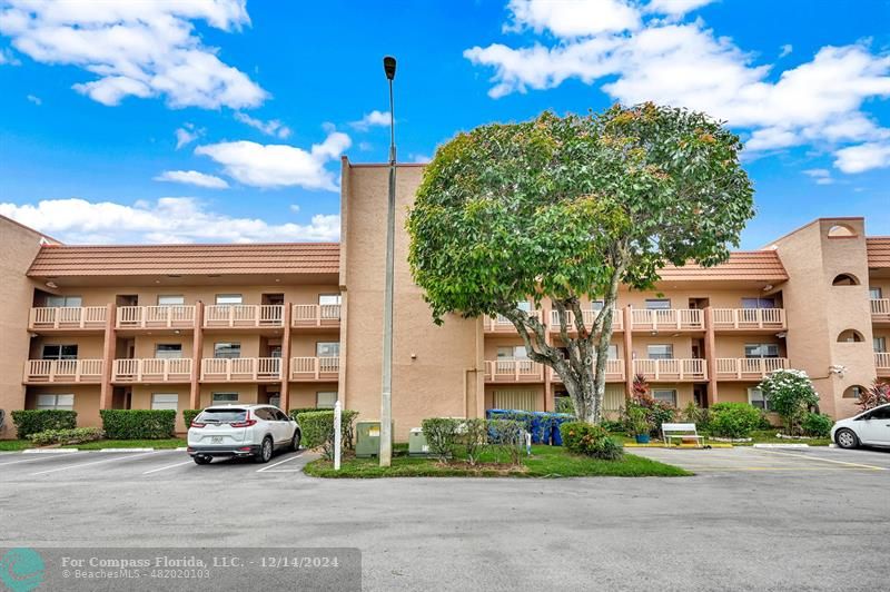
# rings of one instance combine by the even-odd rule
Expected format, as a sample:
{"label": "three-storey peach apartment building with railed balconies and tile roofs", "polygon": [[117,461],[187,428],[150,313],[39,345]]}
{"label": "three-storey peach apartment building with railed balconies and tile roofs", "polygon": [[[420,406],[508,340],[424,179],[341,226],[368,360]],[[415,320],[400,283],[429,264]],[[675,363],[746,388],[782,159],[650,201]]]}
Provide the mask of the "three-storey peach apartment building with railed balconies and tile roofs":
{"label": "three-storey peach apartment building with railed balconies and tile roofs", "polygon": [[[396,437],[431,416],[553,410],[558,376],[500,318],[432,323],[411,280],[404,221],[423,174],[397,176],[393,415]],[[379,415],[388,169],[343,160],[339,244],[68,246],[0,219],[0,408],[196,408],[269,402]],[[560,344],[550,303],[530,312]],[[590,323],[602,307],[584,303]],[[890,378],[890,237],[862,218],[813,220],[704,269],[664,269],[622,290],[606,410],[633,376],[676,406],[763,407],[756,385],[807,371],[824,412],[847,416]],[[179,420],[179,428],[185,428]],[[4,436],[11,436],[7,430]]]}

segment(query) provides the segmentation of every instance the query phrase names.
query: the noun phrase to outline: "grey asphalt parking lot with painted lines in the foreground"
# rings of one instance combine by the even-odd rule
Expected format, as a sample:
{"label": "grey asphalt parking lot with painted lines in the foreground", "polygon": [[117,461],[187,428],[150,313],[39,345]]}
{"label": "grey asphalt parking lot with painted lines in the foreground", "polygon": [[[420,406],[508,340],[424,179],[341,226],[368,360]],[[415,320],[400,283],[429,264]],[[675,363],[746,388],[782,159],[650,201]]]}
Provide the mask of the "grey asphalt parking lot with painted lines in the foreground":
{"label": "grey asphalt parking lot with painted lines in the foreground", "polygon": [[358,547],[364,590],[887,588],[890,452],[634,454],[696,476],[317,480],[305,452],[7,453],[0,546]]}

